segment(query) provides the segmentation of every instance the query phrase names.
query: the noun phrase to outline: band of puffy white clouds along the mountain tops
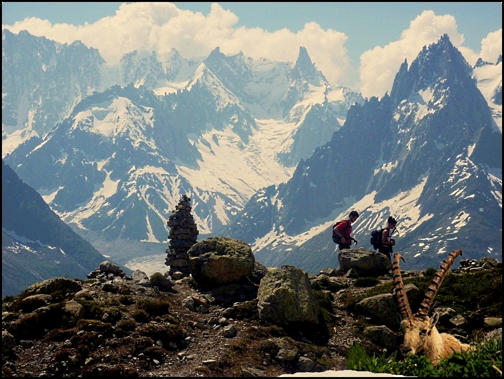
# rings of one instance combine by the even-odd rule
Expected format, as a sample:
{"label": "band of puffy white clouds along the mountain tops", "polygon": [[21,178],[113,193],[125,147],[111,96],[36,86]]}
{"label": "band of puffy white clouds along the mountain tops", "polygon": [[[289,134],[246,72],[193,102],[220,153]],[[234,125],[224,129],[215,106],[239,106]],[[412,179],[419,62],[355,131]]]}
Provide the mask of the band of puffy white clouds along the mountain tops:
{"label": "band of puffy white clouds along the mountain tops", "polygon": [[[114,16],[84,25],[51,24],[47,20],[27,18],[12,26],[2,25],[14,33],[27,30],[30,34],[45,36],[61,42],[82,41],[98,49],[107,64],[116,64],[128,52],[155,50],[159,54],[177,49],[186,58],[202,57],[220,47],[226,55],[243,52],[255,59],[262,57],[293,62],[299,47],[304,46],[317,69],[326,78],[339,85],[359,90],[364,96],[382,97],[390,93],[392,83],[404,59],[408,63],[424,45],[436,42],[445,33],[470,64],[479,56],[494,62],[501,51],[501,30],[490,33],[481,43],[481,54],[463,47],[464,36],[457,31],[455,18],[436,16],[424,11],[411,21],[398,41],[376,46],[360,58],[360,83],[357,70],[352,68],[343,32],[323,29],[315,22],[303,29],[266,31],[261,28],[237,27],[238,17],[213,3],[210,13],[185,11],[173,3],[123,3]],[[498,51],[498,53],[496,53]],[[360,88],[359,88],[360,87]]]}

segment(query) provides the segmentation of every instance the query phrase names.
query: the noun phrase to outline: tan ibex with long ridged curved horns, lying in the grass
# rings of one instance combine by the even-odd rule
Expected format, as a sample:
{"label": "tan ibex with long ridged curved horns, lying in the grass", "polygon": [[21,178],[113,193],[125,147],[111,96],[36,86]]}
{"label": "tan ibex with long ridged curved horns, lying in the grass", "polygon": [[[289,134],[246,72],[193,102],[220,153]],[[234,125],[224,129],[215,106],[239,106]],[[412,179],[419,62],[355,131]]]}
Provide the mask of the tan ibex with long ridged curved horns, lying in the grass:
{"label": "tan ibex with long ridged curved horns, lying in the grass", "polygon": [[440,358],[452,355],[454,352],[471,349],[471,345],[460,342],[457,338],[448,333],[439,333],[436,324],[439,320],[439,313],[434,313],[432,318],[427,316],[434,296],[448,274],[450,266],[461,255],[461,250],[454,250],[444,260],[439,270],[434,275],[430,286],[427,288],[424,299],[415,314],[411,313],[411,308],[404,289],[403,278],[399,268],[399,259],[403,259],[396,252],[394,264],[392,265],[394,287],[396,297],[401,311],[401,331],[404,334],[404,343],[401,345],[401,352],[404,356],[410,354],[424,354],[433,365],[439,363]]}

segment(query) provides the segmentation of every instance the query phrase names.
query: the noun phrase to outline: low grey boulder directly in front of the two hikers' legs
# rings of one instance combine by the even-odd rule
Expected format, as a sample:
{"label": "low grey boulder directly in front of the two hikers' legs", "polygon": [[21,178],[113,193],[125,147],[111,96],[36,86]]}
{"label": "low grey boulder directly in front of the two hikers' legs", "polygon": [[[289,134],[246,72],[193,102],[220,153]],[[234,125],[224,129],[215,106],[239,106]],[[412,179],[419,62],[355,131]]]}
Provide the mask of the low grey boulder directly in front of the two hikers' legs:
{"label": "low grey boulder directly in front of the two hikers' legs", "polygon": [[338,262],[341,271],[347,272],[353,269],[360,277],[379,277],[388,275],[392,270],[392,262],[387,256],[362,247],[341,250]]}

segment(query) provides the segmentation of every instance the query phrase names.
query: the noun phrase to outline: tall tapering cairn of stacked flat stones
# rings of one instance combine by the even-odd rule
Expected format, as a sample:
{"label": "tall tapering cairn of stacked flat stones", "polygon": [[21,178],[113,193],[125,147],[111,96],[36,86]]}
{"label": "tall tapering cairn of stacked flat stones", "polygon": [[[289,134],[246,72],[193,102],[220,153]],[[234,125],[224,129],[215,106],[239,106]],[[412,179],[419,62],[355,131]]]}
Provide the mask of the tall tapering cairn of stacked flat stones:
{"label": "tall tapering cairn of stacked flat stones", "polygon": [[190,202],[190,198],[182,195],[166,222],[169,242],[165,265],[169,266],[167,274],[172,278],[187,277],[191,274],[187,251],[196,243],[200,232],[191,214]]}

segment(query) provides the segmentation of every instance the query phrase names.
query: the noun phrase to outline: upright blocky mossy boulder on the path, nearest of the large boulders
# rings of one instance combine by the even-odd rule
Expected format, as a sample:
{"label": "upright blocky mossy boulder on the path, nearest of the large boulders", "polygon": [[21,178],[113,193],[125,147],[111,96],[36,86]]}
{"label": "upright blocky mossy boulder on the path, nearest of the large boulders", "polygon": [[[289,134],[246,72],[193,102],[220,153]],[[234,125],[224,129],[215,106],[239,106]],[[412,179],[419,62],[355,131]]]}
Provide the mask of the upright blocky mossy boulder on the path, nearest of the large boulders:
{"label": "upright blocky mossy boulder on the path, nearest of the large boulders", "polygon": [[270,268],[258,293],[259,317],[276,325],[297,323],[317,325],[320,306],[308,273],[294,266]]}

